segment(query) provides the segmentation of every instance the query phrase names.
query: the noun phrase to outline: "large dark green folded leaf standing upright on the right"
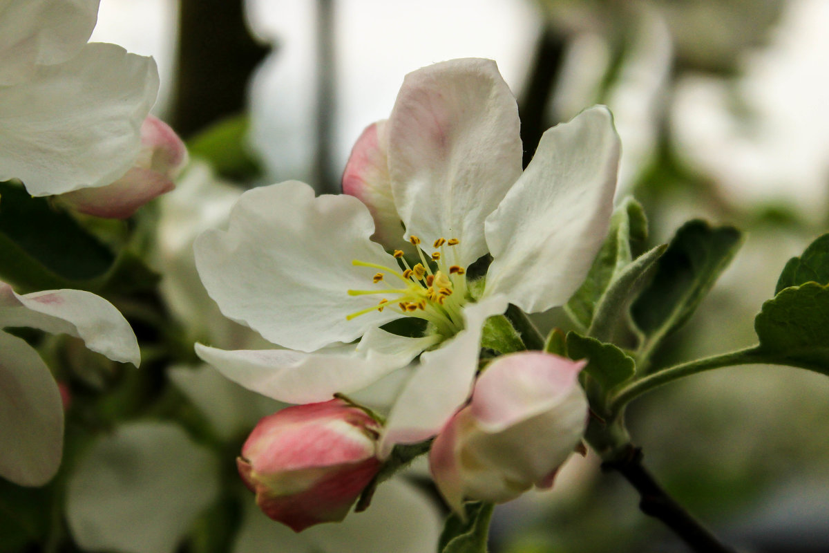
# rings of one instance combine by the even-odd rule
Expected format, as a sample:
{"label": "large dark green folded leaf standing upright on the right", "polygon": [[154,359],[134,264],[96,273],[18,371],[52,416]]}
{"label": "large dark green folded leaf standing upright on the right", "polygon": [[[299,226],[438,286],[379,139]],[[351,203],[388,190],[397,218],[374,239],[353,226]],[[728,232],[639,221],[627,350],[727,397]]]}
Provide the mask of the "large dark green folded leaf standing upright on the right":
{"label": "large dark green folded leaf standing upright on the right", "polygon": [[686,323],[742,240],[734,227],[711,228],[699,220],[688,221],[676,231],[657,261],[651,282],[631,306],[642,338],[641,360],[647,360],[664,337]]}

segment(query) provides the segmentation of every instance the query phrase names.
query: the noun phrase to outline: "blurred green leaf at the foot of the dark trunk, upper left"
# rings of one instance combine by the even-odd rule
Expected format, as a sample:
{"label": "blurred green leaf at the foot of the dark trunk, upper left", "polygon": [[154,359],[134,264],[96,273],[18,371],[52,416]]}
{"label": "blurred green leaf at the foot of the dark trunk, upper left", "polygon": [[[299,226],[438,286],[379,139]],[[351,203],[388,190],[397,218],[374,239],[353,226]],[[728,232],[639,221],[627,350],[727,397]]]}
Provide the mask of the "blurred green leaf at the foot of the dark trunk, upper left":
{"label": "blurred green leaf at the foot of the dark trunk, upper left", "polygon": [[247,115],[221,119],[187,141],[194,158],[204,158],[222,177],[245,180],[262,173],[257,160],[246,147],[250,121]]}

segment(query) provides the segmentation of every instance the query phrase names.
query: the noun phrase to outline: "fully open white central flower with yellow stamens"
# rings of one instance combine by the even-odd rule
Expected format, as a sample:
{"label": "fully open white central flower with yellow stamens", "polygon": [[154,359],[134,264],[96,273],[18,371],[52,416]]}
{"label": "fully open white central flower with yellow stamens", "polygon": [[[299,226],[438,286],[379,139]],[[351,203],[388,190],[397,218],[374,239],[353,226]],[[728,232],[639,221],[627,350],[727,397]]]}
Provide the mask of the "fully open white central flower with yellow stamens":
{"label": "fully open white central flower with yellow stamens", "polygon": [[[385,426],[388,454],[436,434],[466,400],[488,317],[507,303],[530,313],[561,305],[581,284],[608,228],[619,144],[608,110],[588,109],[548,130],[522,173],[515,98],[494,62],[475,59],[407,75],[380,127],[358,140],[344,178],[347,190],[361,180],[366,203],[283,182],[246,192],[227,231],[196,240],[222,312],[289,349],[196,351],[290,403],[358,390],[423,352]],[[376,230],[395,239],[394,213],[400,246],[386,245],[416,245],[419,264],[370,240]],[[476,302],[465,271],[487,252]],[[428,331],[381,329],[403,317]]]}

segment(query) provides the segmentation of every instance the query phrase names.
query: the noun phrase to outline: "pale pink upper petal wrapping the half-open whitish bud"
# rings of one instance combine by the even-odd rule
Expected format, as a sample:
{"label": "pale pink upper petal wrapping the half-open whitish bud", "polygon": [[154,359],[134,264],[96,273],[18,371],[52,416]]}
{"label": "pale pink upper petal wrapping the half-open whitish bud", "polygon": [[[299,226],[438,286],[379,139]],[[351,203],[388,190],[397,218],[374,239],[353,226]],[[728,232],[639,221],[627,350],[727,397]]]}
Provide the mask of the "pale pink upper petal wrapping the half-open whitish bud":
{"label": "pale pink upper petal wrapping the half-open whitish bud", "polygon": [[475,383],[473,416],[482,429],[495,433],[540,415],[579,387],[586,364],[544,352],[498,357]]}

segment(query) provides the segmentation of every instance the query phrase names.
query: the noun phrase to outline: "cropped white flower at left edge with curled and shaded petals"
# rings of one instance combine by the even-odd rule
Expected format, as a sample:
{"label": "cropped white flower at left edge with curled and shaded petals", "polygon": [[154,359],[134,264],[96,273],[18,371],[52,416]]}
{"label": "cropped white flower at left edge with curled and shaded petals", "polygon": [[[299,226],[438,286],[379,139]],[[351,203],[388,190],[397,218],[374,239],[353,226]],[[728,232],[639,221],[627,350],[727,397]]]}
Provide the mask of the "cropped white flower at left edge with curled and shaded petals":
{"label": "cropped white flower at left edge with curled and shaded petals", "polygon": [[114,361],[138,366],[129,323],[111,303],[80,290],[18,295],[0,282],[0,476],[39,486],[54,476],[63,449],[63,406],[55,379],[37,352],[8,327],[80,337]]}

